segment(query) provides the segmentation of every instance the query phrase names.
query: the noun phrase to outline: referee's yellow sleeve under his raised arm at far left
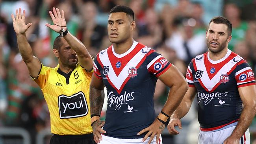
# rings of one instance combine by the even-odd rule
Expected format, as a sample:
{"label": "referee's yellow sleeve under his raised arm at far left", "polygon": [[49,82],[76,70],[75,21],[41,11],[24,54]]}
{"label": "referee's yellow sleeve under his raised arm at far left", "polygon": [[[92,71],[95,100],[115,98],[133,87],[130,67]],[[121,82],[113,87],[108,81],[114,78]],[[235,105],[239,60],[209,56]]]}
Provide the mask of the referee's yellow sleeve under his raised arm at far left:
{"label": "referee's yellow sleeve under his raised arm at far left", "polygon": [[44,66],[41,63],[41,70],[39,72],[39,75],[37,76],[37,78],[33,78],[33,81],[35,81],[35,83],[37,83],[37,85],[39,85],[39,87],[43,89],[48,81],[49,73],[50,67]]}

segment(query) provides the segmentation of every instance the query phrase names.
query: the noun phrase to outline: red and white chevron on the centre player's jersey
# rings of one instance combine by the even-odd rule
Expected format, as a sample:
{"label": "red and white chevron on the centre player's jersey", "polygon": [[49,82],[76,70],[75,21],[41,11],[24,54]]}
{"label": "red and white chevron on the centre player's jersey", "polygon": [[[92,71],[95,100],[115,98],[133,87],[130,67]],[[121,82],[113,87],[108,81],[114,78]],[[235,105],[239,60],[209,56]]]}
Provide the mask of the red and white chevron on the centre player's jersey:
{"label": "red and white chevron on the centre player's jersey", "polygon": [[[97,57],[98,63],[104,69],[103,74],[105,76],[103,75],[102,78],[108,79],[109,84],[119,94],[127,81],[135,76],[131,75],[131,68],[133,68],[132,70],[138,69],[145,61],[147,54],[154,52],[153,50],[150,51],[150,48],[138,44],[135,41],[132,47],[124,54],[115,55],[113,46],[110,46],[107,51],[104,54],[99,54]],[[116,65],[118,62],[121,65]]]}

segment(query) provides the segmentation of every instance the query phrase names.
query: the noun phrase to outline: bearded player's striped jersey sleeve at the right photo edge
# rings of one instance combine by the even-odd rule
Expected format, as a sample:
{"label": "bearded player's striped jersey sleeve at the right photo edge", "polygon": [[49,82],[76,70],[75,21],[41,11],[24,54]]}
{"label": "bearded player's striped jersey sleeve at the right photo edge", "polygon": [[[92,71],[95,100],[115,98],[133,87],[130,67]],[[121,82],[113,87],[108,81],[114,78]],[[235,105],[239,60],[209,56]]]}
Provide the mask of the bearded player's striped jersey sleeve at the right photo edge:
{"label": "bearded player's striped jersey sleeve at the right photo edge", "polygon": [[241,60],[236,67],[237,87],[255,85],[255,78],[252,68],[245,60]]}

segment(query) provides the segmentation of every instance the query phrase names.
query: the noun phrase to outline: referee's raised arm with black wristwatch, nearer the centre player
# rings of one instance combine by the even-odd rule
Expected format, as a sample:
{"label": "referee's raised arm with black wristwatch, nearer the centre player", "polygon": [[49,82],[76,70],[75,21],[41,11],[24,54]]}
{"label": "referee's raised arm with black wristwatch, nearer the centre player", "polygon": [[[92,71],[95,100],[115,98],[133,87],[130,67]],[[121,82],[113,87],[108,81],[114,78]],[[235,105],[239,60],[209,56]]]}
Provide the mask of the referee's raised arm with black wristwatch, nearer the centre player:
{"label": "referee's raised arm with black wristwatch, nearer the centre player", "polygon": [[[52,13],[53,11],[53,13]],[[64,31],[67,30],[67,24],[64,17],[64,11],[62,10],[61,13],[58,8],[52,8],[52,11],[49,11],[50,16],[52,18],[53,25],[45,24],[52,30],[60,33],[61,28]],[[85,48],[84,44],[79,41],[74,35],[68,32],[66,35],[63,35],[64,39],[69,43],[70,47],[76,52],[78,56],[78,62],[80,65],[85,68],[87,71],[92,70],[93,68],[93,58]]]}

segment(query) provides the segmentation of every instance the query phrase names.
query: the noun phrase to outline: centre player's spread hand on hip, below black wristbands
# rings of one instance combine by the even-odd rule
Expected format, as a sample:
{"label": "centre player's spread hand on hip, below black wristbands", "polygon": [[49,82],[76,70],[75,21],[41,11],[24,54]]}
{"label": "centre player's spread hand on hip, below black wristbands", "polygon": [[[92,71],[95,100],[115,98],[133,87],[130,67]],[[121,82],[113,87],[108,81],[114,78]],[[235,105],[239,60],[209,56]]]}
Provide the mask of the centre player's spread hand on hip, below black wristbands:
{"label": "centre player's spread hand on hip, below black wristbands", "polygon": [[148,137],[150,137],[150,139],[148,141],[148,144],[150,144],[156,135],[156,144],[158,144],[159,137],[160,137],[161,133],[163,132],[164,128],[165,128],[165,124],[161,123],[158,119],[156,119],[153,122],[153,124],[151,124],[149,127],[145,128],[145,129],[142,129],[137,135],[141,135],[148,131],[148,133],[142,139],[142,142],[144,142]]}

